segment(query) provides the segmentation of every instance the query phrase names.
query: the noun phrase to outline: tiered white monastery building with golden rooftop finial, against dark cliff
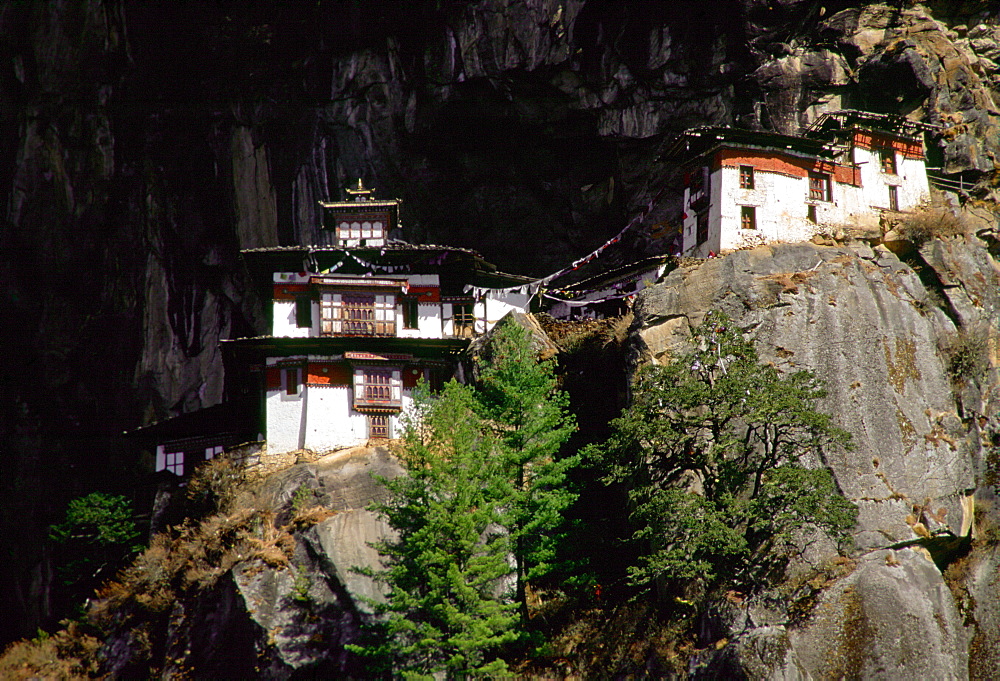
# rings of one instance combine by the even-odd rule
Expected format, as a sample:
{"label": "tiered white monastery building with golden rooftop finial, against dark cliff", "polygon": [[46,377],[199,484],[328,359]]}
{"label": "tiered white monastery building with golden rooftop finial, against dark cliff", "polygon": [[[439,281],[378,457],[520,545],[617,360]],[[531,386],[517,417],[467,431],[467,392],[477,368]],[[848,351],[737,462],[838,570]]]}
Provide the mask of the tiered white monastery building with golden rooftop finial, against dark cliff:
{"label": "tiered white monastery building with golden rooftop finial, against dark cliff", "polygon": [[318,245],[243,251],[270,332],[222,341],[225,403],[136,431],[157,471],[186,475],[254,440],[270,456],[397,437],[421,379],[439,387],[473,337],[526,311],[530,279],[468,249],[393,240],[400,201],[360,181],[347,193],[321,203]]}

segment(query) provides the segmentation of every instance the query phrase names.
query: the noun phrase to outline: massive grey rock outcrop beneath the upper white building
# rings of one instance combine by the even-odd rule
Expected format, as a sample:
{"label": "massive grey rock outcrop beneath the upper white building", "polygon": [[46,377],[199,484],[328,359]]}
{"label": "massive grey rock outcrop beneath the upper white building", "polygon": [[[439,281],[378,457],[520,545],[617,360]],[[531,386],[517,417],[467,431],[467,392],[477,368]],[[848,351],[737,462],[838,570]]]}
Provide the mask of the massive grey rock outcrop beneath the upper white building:
{"label": "massive grey rock outcrop beneath the upper white building", "polygon": [[[973,496],[982,499],[976,527],[995,523],[1000,267],[975,237],[931,240],[902,257],[861,242],[774,244],[678,268],[639,296],[636,360],[665,360],[707,310],[722,310],[767,361],[823,378],[822,406],[855,445],[812,462],[829,467],[860,510],[853,572],[818,592],[812,614],[794,624],[787,609],[755,616],[744,606],[719,633],[732,642],[696,660],[699,674],[966,678],[1000,643],[995,594],[984,592],[997,574],[989,542],[963,559],[975,567],[949,571],[946,584],[941,569],[962,550],[948,553],[955,540],[921,541],[967,533]],[[970,329],[981,334],[969,347],[982,363],[959,375],[949,344]],[[833,557],[830,547],[827,564]],[[962,589],[990,605],[956,600]],[[975,607],[981,615],[970,616]]]}

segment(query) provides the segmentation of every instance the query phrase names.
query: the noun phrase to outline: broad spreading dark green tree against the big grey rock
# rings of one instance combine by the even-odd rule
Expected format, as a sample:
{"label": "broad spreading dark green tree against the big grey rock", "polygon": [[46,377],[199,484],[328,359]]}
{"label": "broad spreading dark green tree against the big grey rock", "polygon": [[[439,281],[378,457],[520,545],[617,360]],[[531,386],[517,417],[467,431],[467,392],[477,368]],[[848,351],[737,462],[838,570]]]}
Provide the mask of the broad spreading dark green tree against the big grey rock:
{"label": "broad spreading dark green tree against the big grey rock", "polygon": [[759,583],[783,568],[800,528],[840,537],[854,525],[829,471],[800,463],[850,435],[816,410],[826,393],[811,372],[763,364],[724,315],[710,312],[692,340],[639,372],[602,448],[610,479],[631,486],[634,536],[648,547],[630,578]]}

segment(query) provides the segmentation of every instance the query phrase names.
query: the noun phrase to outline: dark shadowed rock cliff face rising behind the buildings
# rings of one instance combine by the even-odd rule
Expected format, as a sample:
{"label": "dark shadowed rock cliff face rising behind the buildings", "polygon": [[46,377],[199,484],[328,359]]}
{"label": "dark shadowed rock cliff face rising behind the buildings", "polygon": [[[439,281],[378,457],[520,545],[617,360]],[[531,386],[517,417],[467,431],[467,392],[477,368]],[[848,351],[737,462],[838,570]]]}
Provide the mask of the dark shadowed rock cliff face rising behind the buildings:
{"label": "dark shadowed rock cliff face rising behind the buildings", "polygon": [[309,242],[348,181],[402,197],[409,240],[525,274],[652,202],[623,260],[663,246],[657,154],[691,125],[868,107],[991,170],[997,30],[945,0],[0,7],[0,639],[56,614],[38,538],[65,500],[135,480],[117,434],[221,399],[218,340],[262,320],[238,249]]}

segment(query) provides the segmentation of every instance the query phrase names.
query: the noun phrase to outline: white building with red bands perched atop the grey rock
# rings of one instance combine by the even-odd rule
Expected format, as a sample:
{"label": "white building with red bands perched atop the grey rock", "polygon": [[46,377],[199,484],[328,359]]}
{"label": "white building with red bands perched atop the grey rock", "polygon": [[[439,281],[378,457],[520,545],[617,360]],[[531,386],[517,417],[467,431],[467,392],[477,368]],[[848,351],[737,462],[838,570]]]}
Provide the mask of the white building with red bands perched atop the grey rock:
{"label": "white building with red bands perched atop the grey rock", "polygon": [[667,152],[685,170],[684,255],[802,241],[930,197],[923,132],[900,116],[838,111],[804,136],[695,128]]}

